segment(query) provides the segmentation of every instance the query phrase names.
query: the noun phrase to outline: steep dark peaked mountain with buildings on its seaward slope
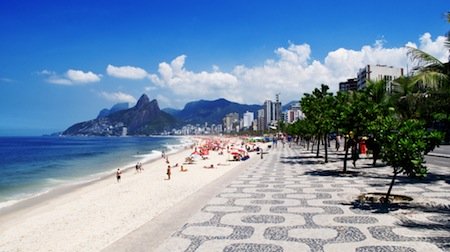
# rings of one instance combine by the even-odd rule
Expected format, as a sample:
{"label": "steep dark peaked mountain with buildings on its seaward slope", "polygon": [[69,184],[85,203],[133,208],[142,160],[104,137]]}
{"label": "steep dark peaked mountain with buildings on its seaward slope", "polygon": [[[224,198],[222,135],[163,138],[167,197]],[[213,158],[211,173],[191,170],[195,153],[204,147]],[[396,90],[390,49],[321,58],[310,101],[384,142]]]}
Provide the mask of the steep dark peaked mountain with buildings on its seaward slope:
{"label": "steep dark peaked mountain with buildings on its seaward slope", "polygon": [[156,100],[143,94],[136,106],[110,113],[105,117],[72,125],[63,135],[120,136],[126,127],[128,135],[150,135],[170,130],[177,120],[161,111]]}

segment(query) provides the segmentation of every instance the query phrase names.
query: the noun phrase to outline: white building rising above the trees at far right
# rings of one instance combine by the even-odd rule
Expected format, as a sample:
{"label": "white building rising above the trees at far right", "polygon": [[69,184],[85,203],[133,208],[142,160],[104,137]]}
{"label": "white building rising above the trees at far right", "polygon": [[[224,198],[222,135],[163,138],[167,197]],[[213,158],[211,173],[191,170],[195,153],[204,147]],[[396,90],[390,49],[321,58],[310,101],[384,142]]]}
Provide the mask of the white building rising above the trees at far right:
{"label": "white building rising above the trees at far right", "polygon": [[386,81],[386,91],[392,90],[392,81],[403,76],[403,68],[386,65],[367,65],[358,72],[358,90],[367,86],[367,81]]}

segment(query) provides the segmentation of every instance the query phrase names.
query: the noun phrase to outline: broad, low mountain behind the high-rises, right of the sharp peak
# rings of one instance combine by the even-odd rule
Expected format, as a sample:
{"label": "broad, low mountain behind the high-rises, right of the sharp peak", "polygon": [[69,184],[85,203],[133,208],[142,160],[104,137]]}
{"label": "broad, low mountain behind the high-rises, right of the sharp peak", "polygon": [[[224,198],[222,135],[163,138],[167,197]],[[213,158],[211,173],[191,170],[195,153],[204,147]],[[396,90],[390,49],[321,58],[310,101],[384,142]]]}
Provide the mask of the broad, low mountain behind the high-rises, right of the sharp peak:
{"label": "broad, low mountain behind the high-rises, right of the sharp peak", "polygon": [[[187,103],[181,111],[171,110],[177,119],[184,123],[222,123],[222,119],[228,113],[239,113],[240,117],[246,112],[257,113],[261,105],[245,105],[231,102],[226,99],[217,99],[214,101],[199,100]],[[166,110],[167,111],[167,110]]]}

